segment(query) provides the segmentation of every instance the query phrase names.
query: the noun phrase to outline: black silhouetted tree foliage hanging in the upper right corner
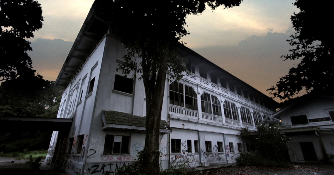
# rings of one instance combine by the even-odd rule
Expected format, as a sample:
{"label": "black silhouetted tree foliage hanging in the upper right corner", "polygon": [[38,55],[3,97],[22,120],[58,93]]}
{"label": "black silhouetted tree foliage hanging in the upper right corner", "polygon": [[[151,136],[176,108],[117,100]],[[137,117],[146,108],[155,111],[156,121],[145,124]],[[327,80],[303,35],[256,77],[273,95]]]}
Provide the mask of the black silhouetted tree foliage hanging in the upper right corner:
{"label": "black silhouetted tree foliage hanging in the upper right corner", "polygon": [[276,86],[268,90],[274,97],[281,100],[290,99],[302,89],[307,92],[323,93],[332,90],[334,64],[331,57],[332,37],[330,32],[331,7],[326,6],[327,1],[296,0],[294,3],[300,9],[299,13],[291,16],[293,28],[296,31],[287,40],[293,49],[290,54],[283,55],[284,60],[301,59],[297,67],[289,70],[288,75],[281,77]]}

